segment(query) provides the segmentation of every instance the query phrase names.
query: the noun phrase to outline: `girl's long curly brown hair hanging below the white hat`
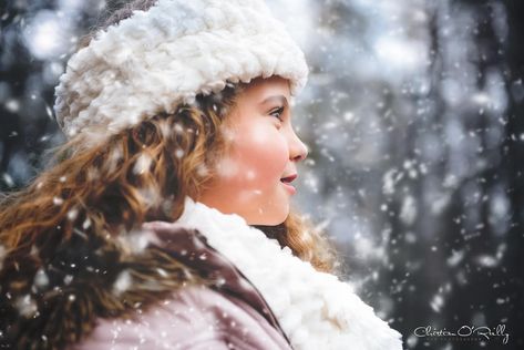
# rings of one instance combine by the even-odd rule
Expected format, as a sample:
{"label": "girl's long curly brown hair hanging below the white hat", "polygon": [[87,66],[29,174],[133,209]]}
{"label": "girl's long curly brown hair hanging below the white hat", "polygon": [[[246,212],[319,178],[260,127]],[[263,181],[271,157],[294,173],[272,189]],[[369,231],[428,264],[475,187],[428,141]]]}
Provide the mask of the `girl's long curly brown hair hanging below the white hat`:
{"label": "girl's long curly brown hair hanging below the white hat", "polygon": [[[115,10],[81,45],[97,30],[153,3],[140,0]],[[194,104],[158,113],[89,148],[80,133],[51,150],[51,165],[28,187],[0,200],[4,261],[30,254],[37,240],[41,255],[52,255],[53,245],[79,228],[86,235],[119,235],[148,220],[175,222],[184,197],[198,197],[213,178],[215,162],[227,148],[220,127],[243,89],[244,83],[229,83],[219,93],[197,95]],[[296,209],[278,226],[257,227],[316,269],[338,272],[326,233]]]}

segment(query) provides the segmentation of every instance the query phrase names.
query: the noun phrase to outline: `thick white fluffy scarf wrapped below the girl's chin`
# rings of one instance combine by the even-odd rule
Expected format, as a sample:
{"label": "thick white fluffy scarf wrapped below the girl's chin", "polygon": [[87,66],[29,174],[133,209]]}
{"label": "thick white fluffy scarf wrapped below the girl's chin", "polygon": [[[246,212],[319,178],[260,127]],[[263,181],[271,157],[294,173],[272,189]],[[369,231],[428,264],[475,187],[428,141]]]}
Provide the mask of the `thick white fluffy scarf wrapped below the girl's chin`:
{"label": "thick white fluffy scarf wrapped below the girl's chin", "polygon": [[243,217],[186,197],[177,223],[198,229],[255,285],[295,349],[402,349],[402,336],[349,284],[315,270]]}

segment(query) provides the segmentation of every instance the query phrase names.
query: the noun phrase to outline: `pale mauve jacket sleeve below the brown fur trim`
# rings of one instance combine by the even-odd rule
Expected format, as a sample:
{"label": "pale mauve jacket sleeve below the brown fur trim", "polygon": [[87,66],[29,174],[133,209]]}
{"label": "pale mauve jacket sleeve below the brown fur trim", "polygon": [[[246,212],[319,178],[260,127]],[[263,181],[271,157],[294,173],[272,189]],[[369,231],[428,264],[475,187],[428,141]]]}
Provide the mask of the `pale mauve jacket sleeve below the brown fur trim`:
{"label": "pale mauve jacket sleeve below the brown fur trim", "polygon": [[86,349],[290,349],[266,319],[244,301],[191,286],[140,313],[136,320],[100,320],[72,347]]}

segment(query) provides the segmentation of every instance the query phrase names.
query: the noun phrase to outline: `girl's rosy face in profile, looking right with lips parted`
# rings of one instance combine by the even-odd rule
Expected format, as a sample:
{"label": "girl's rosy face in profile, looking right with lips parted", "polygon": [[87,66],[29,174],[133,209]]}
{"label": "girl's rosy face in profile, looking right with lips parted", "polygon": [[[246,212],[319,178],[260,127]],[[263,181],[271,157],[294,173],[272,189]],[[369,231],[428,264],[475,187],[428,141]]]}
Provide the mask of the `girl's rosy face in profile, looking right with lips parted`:
{"label": "girl's rosy face in profile, looking right with lips parted", "polygon": [[280,179],[297,174],[307,147],[295,134],[286,79],[257,78],[239,94],[225,126],[229,143],[216,178],[197,200],[248,225],[278,225],[289,214],[294,189]]}

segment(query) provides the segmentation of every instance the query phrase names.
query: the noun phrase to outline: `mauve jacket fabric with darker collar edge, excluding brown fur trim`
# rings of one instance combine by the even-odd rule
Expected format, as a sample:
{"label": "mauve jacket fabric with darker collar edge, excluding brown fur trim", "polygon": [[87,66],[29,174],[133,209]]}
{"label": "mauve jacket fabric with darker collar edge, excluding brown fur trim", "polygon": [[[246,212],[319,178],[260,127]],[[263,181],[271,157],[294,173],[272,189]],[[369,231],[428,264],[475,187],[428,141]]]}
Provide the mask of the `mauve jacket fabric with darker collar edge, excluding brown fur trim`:
{"label": "mauve jacket fabric with darker collar edge, excluding brown fur trim", "polygon": [[70,349],[291,349],[260,292],[197,230],[157,235],[177,247],[173,254],[184,264],[218,274],[224,285],[182,288],[136,320],[100,319],[86,340]]}

